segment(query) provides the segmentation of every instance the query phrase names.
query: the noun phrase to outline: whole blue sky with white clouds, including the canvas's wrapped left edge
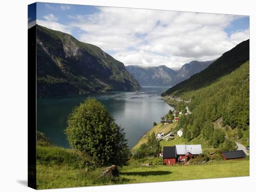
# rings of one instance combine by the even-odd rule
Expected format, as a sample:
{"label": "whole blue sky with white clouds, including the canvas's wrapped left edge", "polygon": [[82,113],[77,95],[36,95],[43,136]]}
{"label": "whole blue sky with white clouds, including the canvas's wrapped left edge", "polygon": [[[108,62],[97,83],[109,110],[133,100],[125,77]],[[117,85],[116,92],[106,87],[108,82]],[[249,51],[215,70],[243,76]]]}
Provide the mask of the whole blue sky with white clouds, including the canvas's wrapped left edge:
{"label": "whole blue sky with white clouds, including the canvas's wrapped left edge", "polygon": [[35,21],[145,67],[213,60],[249,38],[249,16],[242,15],[36,3],[28,27]]}

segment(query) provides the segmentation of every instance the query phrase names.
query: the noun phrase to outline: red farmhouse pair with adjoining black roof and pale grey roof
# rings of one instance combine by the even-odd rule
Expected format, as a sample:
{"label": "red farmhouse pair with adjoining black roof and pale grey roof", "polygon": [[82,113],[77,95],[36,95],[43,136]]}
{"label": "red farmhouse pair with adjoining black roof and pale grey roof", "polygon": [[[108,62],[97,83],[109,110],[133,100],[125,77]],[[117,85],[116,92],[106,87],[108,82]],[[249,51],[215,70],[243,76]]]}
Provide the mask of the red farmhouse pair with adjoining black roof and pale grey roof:
{"label": "red farmhouse pair with adjoining black roof and pale grey roof", "polygon": [[175,145],[163,147],[163,162],[169,165],[175,165],[177,161],[187,162],[194,155],[202,154],[201,145]]}

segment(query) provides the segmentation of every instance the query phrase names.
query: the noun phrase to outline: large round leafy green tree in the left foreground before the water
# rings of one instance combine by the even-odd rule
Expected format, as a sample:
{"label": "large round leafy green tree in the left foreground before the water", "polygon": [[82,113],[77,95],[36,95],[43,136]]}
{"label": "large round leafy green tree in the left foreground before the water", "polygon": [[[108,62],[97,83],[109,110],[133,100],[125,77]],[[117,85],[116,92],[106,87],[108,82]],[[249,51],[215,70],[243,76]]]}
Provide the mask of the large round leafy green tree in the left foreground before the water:
{"label": "large round leafy green tree in the left foreground before the water", "polygon": [[67,140],[97,166],[125,165],[129,150],[123,128],[101,102],[89,97],[67,117]]}

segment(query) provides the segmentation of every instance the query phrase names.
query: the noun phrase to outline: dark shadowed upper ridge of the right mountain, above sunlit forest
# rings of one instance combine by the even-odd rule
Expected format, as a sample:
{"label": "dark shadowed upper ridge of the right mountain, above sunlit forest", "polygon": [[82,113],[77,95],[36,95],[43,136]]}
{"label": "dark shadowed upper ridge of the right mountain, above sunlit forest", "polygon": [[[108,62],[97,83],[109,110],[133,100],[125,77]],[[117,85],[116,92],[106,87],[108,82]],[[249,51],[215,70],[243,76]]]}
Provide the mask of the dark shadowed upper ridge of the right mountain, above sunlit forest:
{"label": "dark shadowed upper ridge of the right mountain, above sunlit forest", "polygon": [[185,92],[206,87],[215,82],[219,77],[227,75],[236,70],[241,64],[248,60],[249,39],[236,45],[236,47],[230,51],[225,52],[206,69],[168,89],[165,93],[162,93],[162,96],[170,94],[172,96],[181,96],[181,94]]}

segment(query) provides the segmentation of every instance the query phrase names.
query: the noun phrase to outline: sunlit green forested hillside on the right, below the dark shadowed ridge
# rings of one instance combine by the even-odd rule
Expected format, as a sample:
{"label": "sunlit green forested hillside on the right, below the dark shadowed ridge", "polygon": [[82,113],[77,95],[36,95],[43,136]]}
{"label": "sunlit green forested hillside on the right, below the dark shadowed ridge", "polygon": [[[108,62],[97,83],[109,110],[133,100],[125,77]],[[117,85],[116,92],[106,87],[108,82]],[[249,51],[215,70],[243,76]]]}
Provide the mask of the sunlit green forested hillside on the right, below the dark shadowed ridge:
{"label": "sunlit green forested hillside on the right, below the dark shadowed ridge", "polygon": [[202,133],[213,147],[225,140],[249,144],[249,61],[207,87],[186,92],[183,98],[191,98],[190,103],[179,103],[179,107],[188,104],[192,111],[179,120],[188,141]]}

